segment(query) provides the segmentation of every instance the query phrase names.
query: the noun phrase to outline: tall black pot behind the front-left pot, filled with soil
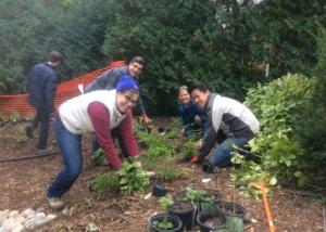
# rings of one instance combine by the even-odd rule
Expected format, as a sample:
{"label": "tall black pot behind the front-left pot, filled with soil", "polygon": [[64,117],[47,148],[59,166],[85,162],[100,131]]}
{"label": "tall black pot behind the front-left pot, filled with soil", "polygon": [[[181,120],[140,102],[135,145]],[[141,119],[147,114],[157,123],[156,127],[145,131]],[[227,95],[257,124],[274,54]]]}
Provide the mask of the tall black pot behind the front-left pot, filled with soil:
{"label": "tall black pot behind the front-left pot, filled with soil", "polygon": [[186,201],[175,202],[170,208],[168,212],[178,216],[183,221],[183,229],[187,231],[192,230],[196,218],[196,207],[193,204]]}

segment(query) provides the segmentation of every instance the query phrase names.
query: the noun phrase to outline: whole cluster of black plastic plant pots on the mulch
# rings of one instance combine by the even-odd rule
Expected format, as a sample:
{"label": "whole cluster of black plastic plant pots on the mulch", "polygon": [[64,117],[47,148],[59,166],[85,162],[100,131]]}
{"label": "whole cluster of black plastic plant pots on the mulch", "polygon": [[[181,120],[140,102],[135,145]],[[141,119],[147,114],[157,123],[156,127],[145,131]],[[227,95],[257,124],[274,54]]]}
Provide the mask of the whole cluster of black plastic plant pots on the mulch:
{"label": "whole cluster of black plastic plant pots on the mulch", "polygon": [[[242,232],[243,222],[250,222],[250,217],[246,208],[233,202],[221,202],[221,193],[217,190],[205,189],[204,191],[208,195],[202,197],[202,199],[208,197],[209,199],[213,199],[213,202],[191,201],[189,203],[185,201],[187,191],[176,192],[174,194],[174,204],[167,209],[168,214],[153,216],[150,219],[151,230],[149,231],[192,231],[199,227],[201,232]],[[159,223],[155,221],[163,221],[163,218],[166,218],[166,216],[174,228],[170,230],[153,229],[152,224]]]}

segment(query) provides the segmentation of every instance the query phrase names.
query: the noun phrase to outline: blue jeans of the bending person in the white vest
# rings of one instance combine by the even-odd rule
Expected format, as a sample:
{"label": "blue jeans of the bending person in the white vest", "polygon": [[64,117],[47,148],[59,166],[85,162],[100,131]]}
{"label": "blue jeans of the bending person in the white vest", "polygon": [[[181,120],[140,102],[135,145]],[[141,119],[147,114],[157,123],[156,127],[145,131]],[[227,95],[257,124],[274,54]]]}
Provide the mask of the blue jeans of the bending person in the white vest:
{"label": "blue jeans of the bending person in the white vest", "polygon": [[66,130],[58,115],[54,119],[54,132],[64,167],[49,186],[47,194],[49,197],[61,197],[71,189],[82,172],[82,136]]}

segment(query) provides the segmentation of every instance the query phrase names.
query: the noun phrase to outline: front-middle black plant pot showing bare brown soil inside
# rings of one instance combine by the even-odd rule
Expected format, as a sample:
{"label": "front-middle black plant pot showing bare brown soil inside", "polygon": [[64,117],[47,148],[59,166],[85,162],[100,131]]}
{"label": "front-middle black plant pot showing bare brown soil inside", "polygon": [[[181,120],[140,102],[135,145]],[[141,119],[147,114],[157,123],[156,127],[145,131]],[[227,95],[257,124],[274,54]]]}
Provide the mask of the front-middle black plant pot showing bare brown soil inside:
{"label": "front-middle black plant pot showing bare brown soil inside", "polygon": [[205,210],[197,215],[197,223],[201,232],[225,231],[226,218],[220,210]]}

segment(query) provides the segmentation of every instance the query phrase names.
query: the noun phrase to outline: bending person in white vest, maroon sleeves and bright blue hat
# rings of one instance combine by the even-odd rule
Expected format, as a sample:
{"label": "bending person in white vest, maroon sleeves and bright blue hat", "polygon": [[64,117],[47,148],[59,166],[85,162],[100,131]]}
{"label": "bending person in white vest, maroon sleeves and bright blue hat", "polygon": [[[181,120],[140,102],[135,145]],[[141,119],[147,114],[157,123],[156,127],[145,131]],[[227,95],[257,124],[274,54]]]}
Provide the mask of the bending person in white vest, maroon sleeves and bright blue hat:
{"label": "bending person in white vest, maroon sleeves and bright blue hat", "polygon": [[[82,134],[95,132],[113,169],[120,169],[112,139],[117,128],[129,156],[138,156],[138,144],[131,125],[131,108],[139,98],[137,81],[129,75],[121,78],[116,90],[98,90],[64,102],[54,119],[54,131],[64,167],[48,189],[47,199],[52,208],[64,207],[62,201],[83,168]],[[136,166],[141,167],[138,162]]]}

